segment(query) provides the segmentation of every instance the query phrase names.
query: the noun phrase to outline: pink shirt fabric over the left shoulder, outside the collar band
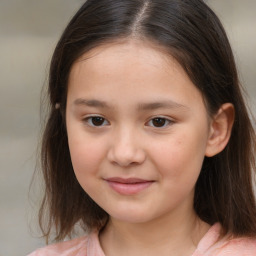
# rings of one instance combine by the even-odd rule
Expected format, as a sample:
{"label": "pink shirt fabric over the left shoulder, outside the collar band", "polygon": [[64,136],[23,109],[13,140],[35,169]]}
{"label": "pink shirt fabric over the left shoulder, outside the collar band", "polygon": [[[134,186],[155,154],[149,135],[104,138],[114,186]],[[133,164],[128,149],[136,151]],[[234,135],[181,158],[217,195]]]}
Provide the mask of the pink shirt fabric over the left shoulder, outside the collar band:
{"label": "pink shirt fabric over the left shoulder, outside the collar band", "polygon": [[48,245],[40,248],[28,256],[87,256],[87,246],[90,236],[83,236],[70,241]]}

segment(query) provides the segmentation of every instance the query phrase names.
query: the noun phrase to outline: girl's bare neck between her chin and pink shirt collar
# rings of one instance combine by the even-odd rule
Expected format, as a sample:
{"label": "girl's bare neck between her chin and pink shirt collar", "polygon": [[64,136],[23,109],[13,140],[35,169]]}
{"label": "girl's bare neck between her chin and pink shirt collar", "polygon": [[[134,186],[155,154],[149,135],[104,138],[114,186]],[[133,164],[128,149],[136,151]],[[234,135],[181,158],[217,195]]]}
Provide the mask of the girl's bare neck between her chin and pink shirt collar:
{"label": "girl's bare neck between her chin and pink shirt collar", "polygon": [[100,234],[100,242],[107,256],[191,255],[208,229],[209,225],[194,212],[176,218],[161,216],[145,223],[110,218]]}

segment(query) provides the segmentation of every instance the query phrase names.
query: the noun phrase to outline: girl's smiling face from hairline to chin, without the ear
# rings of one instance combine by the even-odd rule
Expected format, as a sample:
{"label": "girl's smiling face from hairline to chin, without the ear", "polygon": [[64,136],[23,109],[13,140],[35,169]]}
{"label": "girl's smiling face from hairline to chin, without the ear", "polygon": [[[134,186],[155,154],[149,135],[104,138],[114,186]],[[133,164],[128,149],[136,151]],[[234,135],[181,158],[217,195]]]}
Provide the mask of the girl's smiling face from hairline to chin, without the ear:
{"label": "girl's smiling face from hairline to chin, without the ear", "polygon": [[76,177],[111,218],[193,212],[209,118],[174,59],[136,41],[86,53],[71,69],[66,125]]}

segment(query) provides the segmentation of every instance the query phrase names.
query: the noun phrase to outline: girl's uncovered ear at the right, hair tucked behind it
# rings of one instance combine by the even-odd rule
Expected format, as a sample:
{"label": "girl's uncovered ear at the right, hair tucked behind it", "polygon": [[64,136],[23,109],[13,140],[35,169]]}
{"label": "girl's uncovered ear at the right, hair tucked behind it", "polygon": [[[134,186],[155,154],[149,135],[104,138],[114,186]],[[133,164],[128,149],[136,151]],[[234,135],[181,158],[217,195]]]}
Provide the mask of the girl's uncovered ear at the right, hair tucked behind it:
{"label": "girl's uncovered ear at the right, hair tucked behind it", "polygon": [[235,110],[231,103],[223,104],[217,114],[214,115],[210,125],[210,134],[205,152],[206,156],[212,157],[226,147],[231,135],[234,117]]}

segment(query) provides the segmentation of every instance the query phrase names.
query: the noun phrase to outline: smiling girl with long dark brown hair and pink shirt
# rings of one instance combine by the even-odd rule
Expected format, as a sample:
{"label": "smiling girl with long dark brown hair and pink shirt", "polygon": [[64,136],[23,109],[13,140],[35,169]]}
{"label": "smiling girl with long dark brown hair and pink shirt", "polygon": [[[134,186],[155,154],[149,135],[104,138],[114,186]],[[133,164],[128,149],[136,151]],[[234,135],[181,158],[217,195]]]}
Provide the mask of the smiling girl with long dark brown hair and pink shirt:
{"label": "smiling girl with long dark brown hair and pink shirt", "polygon": [[203,1],[86,1],[49,96],[41,227],[88,234],[31,256],[256,255],[255,134]]}

